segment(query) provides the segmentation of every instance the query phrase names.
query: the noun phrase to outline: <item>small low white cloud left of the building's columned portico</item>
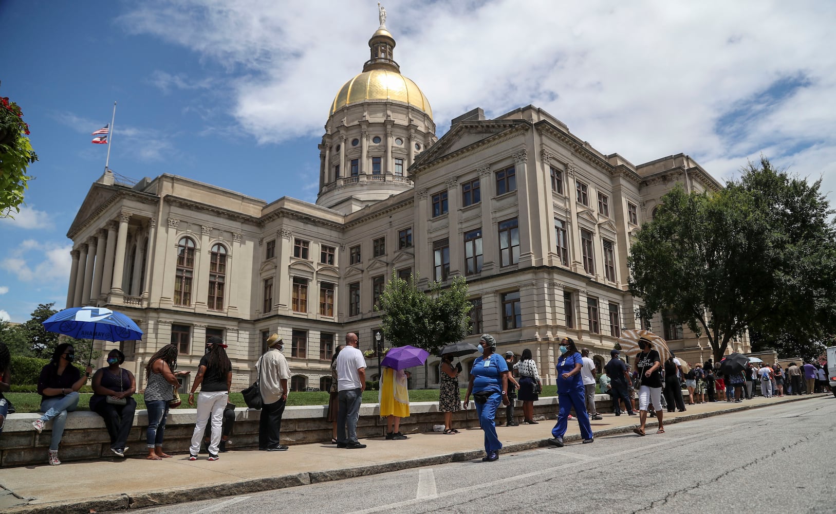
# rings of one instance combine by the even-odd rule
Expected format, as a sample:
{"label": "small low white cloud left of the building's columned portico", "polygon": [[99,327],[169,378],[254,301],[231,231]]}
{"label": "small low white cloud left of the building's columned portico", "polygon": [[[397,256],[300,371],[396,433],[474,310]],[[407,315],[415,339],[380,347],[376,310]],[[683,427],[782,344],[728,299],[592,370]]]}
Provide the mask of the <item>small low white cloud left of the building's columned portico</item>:
{"label": "small low white cloud left of the building's columned portico", "polygon": [[27,239],[18,247],[7,250],[7,257],[0,259],[0,269],[14,274],[22,282],[66,283],[72,265],[70,250],[71,244]]}

